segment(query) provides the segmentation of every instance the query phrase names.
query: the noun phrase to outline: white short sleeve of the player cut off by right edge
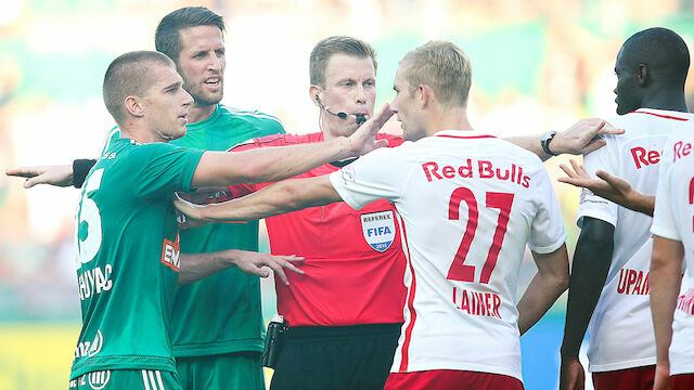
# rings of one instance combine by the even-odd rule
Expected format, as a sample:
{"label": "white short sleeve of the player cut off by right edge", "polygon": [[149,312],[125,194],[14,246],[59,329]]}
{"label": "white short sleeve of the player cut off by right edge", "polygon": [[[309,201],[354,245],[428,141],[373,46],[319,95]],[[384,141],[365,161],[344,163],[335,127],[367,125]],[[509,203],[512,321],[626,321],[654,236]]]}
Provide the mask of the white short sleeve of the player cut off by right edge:
{"label": "white short sleeve of the player cut off by right edge", "polygon": [[672,156],[668,153],[670,151],[671,147],[668,142],[665,146],[665,153],[660,158],[658,188],[655,195],[651,233],[669,239],[682,240],[677,230],[674,214],[672,213],[672,205],[674,205],[674,202],[670,199],[670,168],[672,167]]}

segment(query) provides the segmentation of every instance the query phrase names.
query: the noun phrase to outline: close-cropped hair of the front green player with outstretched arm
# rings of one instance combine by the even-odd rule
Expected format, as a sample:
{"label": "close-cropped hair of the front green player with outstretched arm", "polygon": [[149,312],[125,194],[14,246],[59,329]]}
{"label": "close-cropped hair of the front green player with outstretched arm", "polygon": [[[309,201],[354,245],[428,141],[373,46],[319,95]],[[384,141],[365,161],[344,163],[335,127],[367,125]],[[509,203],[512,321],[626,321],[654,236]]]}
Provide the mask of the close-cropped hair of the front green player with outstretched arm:
{"label": "close-cropped hair of the front green player with outstretched arm", "polygon": [[116,123],[125,118],[124,102],[128,96],[143,96],[156,78],[151,73],[152,64],[176,68],[168,56],[155,51],[134,51],[114,60],[104,76],[103,96],[106,109]]}

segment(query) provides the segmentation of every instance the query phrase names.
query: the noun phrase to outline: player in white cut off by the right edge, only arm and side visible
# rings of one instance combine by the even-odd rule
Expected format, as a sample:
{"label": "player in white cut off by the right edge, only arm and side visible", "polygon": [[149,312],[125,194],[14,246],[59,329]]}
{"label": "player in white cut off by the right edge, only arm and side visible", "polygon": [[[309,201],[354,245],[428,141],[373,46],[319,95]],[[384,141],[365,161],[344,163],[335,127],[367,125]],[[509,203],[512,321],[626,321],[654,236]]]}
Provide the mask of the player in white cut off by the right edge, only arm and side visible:
{"label": "player in white cut off by the right edge, only arm and side visible", "polygon": [[654,388],[668,389],[669,382],[674,390],[693,389],[694,126],[677,131],[665,148],[651,232],[655,235],[651,263],[657,349]]}

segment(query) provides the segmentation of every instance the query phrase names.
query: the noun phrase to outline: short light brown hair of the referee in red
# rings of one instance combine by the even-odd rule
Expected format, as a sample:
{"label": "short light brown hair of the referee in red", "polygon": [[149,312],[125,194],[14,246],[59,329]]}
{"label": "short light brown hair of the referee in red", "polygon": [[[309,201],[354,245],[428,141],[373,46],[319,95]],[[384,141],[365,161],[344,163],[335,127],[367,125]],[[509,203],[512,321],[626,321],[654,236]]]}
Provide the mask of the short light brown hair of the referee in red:
{"label": "short light brown hair of the referee in red", "polygon": [[316,43],[311,51],[309,64],[309,77],[311,84],[325,88],[325,69],[333,54],[347,54],[359,58],[370,57],[373,68],[378,68],[376,52],[371,44],[357,38],[334,36],[327,37]]}

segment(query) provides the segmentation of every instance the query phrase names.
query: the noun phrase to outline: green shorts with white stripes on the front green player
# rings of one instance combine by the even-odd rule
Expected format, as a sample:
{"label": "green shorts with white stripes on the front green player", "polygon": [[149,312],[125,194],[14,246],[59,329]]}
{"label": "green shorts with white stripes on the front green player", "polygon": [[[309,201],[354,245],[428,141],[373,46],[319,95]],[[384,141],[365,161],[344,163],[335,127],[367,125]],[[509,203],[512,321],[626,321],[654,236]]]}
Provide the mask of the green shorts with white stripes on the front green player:
{"label": "green shorts with white stripes on the front green player", "polygon": [[178,375],[158,369],[107,369],[69,381],[69,390],[182,390]]}

